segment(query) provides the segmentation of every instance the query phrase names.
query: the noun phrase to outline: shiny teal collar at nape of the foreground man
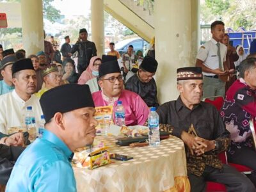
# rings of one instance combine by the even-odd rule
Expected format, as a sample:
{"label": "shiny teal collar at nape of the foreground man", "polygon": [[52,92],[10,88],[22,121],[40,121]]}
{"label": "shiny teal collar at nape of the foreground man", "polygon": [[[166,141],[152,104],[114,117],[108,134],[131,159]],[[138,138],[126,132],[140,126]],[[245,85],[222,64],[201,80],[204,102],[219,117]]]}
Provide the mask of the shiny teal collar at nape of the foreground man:
{"label": "shiny teal collar at nape of the foreground man", "polygon": [[56,136],[56,134],[52,133],[51,131],[48,131],[47,129],[44,129],[42,140],[47,140],[50,141],[51,143],[54,143],[54,145],[56,145],[63,151],[67,159],[70,159],[72,151],[67,147],[67,145],[63,141],[60,140],[60,138]]}

